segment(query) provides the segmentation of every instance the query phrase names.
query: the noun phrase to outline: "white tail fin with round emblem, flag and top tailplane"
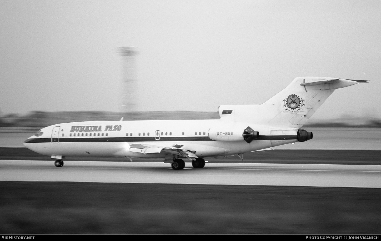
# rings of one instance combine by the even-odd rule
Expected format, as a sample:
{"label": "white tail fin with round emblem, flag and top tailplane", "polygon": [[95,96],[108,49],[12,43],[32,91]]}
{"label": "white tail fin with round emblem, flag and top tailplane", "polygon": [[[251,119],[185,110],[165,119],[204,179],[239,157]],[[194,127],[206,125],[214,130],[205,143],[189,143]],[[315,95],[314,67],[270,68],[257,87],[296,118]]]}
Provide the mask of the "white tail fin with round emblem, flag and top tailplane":
{"label": "white tail fin with round emblem, flag and top tailplane", "polygon": [[298,77],[263,104],[220,106],[219,114],[221,119],[249,121],[281,128],[300,128],[335,89],[363,82],[368,81]]}

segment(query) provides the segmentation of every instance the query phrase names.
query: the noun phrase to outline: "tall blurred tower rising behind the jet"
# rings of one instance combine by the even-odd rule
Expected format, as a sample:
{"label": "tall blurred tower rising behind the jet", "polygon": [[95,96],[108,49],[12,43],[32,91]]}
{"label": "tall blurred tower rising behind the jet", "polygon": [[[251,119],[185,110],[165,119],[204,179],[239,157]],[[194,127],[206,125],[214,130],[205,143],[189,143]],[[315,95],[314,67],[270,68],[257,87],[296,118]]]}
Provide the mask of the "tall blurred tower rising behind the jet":
{"label": "tall blurred tower rising behind the jet", "polygon": [[136,47],[122,46],[118,48],[118,53],[122,55],[122,97],[120,101],[120,111],[124,113],[138,111],[138,80],[135,76]]}

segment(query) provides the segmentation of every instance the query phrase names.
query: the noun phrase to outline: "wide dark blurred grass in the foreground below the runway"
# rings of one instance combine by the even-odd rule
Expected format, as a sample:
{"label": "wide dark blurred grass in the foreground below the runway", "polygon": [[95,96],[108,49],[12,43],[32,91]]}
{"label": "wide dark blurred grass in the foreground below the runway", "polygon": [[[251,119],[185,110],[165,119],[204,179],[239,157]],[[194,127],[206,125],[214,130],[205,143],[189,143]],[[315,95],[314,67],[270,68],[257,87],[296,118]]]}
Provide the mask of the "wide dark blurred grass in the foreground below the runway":
{"label": "wide dark blurred grass in the foreground below the runway", "polygon": [[381,232],[381,189],[0,182],[0,232]]}

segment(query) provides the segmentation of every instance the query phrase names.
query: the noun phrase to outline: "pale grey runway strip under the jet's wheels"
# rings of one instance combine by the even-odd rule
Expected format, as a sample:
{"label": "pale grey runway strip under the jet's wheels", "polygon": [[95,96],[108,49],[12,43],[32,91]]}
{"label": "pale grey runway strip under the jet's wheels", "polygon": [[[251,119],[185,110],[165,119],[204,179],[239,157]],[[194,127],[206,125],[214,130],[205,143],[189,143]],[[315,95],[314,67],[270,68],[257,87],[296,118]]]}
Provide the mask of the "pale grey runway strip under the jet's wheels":
{"label": "pale grey runway strip under the jet's wheels", "polygon": [[162,162],[0,160],[1,181],[181,183],[381,188],[381,165],[206,163],[173,170]]}

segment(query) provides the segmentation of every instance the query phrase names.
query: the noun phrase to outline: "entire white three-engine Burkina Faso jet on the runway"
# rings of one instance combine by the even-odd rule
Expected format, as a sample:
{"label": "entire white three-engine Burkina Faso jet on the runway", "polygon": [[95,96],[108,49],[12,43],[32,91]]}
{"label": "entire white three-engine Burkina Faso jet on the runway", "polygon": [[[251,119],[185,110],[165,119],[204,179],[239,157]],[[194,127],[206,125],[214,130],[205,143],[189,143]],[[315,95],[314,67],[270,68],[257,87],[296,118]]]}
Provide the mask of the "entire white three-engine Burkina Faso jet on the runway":
{"label": "entire white three-engine Burkina Faso jet on the runway", "polygon": [[[192,161],[203,168],[203,157],[216,157],[307,141],[301,129],[337,89],[367,82],[327,77],[298,77],[263,104],[219,106],[215,120],[86,121],[51,125],[24,141],[62,167],[65,156],[161,158],[175,170]],[[123,118],[122,118],[123,119]]]}

